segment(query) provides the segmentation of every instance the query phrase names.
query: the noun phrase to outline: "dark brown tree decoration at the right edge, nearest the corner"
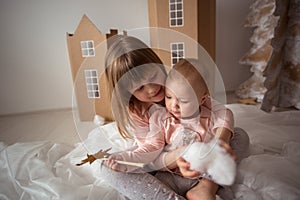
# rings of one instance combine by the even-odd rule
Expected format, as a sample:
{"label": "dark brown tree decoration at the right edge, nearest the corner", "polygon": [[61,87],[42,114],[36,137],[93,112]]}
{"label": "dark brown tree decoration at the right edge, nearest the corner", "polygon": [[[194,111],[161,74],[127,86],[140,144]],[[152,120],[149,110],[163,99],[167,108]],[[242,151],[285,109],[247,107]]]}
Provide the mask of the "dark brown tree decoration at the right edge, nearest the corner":
{"label": "dark brown tree decoration at the right edge, nearest the corner", "polygon": [[272,39],[273,54],[264,72],[265,93],[261,109],[300,109],[300,1],[276,0],[278,25]]}

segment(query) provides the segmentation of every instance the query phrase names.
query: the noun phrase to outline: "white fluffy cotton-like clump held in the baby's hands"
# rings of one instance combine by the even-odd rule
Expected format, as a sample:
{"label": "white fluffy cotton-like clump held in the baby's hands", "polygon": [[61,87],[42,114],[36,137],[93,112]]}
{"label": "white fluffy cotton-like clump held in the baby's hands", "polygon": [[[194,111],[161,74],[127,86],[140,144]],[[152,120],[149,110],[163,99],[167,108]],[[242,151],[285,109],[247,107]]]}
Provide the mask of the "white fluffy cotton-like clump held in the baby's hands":
{"label": "white fluffy cotton-like clump held in the baby's hands", "polygon": [[232,185],[236,176],[236,162],[220,146],[218,140],[209,143],[195,142],[189,145],[183,154],[191,170],[202,173],[202,177],[211,179],[219,185]]}

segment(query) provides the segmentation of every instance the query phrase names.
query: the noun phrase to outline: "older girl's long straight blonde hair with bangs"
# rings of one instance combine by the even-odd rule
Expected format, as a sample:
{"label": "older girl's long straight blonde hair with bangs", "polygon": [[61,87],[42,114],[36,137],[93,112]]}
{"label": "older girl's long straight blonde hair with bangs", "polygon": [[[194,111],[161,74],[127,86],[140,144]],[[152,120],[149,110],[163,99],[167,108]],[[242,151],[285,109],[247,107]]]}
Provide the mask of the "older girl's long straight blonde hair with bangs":
{"label": "older girl's long straight blonde hair with bangs", "polygon": [[[123,138],[132,138],[129,127],[134,126],[130,112],[143,117],[143,102],[136,99],[127,89],[132,82],[139,83],[147,77],[144,65],[159,67],[167,76],[160,58],[145,43],[131,36],[118,35],[105,56],[105,74],[110,91],[112,113]],[[139,70],[138,70],[139,69]]]}

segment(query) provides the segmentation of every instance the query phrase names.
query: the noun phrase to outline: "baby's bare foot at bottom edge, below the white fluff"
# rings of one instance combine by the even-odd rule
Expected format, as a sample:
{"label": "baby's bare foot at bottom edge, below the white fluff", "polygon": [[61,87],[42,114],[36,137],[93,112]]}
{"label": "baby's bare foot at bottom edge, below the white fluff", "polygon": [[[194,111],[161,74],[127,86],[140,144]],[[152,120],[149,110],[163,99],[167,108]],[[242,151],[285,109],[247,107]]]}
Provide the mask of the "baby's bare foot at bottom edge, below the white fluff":
{"label": "baby's bare foot at bottom edge, below the white fluff", "polygon": [[216,183],[202,178],[195,187],[187,192],[186,198],[189,200],[215,200],[218,188]]}

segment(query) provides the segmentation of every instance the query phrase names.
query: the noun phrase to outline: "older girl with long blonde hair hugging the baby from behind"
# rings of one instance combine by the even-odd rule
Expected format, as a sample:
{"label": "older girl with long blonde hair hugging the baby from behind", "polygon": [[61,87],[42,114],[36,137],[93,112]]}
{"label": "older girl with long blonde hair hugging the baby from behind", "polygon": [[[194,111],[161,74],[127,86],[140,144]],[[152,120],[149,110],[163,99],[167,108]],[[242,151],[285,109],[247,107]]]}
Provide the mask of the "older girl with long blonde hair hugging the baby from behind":
{"label": "older girl with long blonde hair hugging the baby from behind", "polygon": [[136,145],[112,155],[105,162],[112,170],[104,166],[101,175],[130,199],[184,199],[153,175],[124,173],[133,169],[115,162],[121,159],[147,163],[163,150],[164,135],[149,137],[149,108],[164,104],[167,73],[159,57],[140,40],[130,36],[117,36],[113,40],[105,58],[112,111],[121,136],[134,137]]}

